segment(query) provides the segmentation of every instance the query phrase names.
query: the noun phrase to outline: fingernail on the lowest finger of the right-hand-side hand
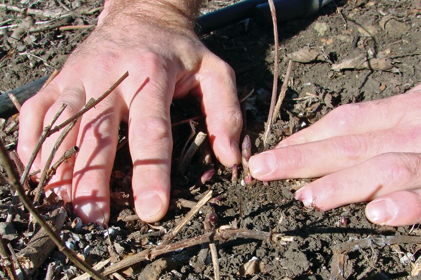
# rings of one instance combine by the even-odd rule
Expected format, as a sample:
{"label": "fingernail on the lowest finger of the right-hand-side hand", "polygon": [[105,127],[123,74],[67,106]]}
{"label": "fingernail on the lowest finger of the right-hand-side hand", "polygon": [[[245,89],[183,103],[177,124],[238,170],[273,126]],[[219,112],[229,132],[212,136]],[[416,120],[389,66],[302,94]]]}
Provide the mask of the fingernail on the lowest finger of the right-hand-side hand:
{"label": "fingernail on the lowest finger of the right-hand-side hand", "polygon": [[395,218],[396,205],[388,199],[375,200],[365,207],[365,215],[373,223],[386,224]]}

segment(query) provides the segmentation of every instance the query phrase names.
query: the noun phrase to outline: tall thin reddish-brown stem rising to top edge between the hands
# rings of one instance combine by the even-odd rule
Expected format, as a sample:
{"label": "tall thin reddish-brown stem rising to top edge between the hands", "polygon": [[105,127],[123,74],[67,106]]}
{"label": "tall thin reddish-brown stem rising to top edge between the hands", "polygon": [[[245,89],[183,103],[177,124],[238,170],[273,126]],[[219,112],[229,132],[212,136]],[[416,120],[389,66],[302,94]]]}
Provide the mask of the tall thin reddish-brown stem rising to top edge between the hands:
{"label": "tall thin reddish-brown stem rising to top edge between the hands", "polygon": [[278,89],[278,60],[279,60],[279,40],[278,40],[278,27],[277,27],[277,21],[276,21],[276,10],[273,0],[269,1],[269,7],[271,8],[271,16],[272,16],[272,22],[274,24],[274,41],[275,41],[275,61],[274,61],[274,87],[272,89],[272,99],[271,99],[271,107],[269,109],[268,114],[268,121],[266,123],[265,132],[263,133],[263,141],[262,146],[260,149],[264,150],[266,149],[266,144],[268,141],[269,132],[271,131],[272,126],[272,116],[274,113],[274,106],[276,102],[276,93]]}

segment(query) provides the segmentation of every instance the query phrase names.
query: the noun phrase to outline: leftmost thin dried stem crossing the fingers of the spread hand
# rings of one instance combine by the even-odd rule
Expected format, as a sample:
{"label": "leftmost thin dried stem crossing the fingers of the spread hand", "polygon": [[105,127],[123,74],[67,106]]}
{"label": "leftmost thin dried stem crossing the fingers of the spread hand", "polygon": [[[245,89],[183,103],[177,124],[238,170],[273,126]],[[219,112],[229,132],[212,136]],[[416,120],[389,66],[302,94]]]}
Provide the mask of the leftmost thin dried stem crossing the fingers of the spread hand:
{"label": "leftmost thin dried stem crossing the fingers of the spread hand", "polygon": [[[31,156],[29,157],[28,163],[26,164],[25,170],[23,170],[23,173],[21,175],[21,181],[20,181],[21,186],[23,186],[24,183],[26,182],[29,170],[31,169],[32,164],[34,163],[34,160],[37,157],[37,154],[41,149],[42,143],[44,143],[45,139],[48,136],[48,133],[49,133],[51,127],[54,125],[56,120],[62,114],[62,112],[66,108],[66,106],[67,106],[66,104],[63,104],[62,107],[60,107],[59,111],[54,115],[51,122],[46,127],[44,127],[44,129],[42,131],[42,134],[40,136],[40,139],[38,139],[38,142],[35,145],[35,148],[34,148],[32,154],[31,154]],[[9,212],[7,213],[6,222],[10,223],[13,219],[13,211],[14,211],[14,208],[15,208],[17,198],[18,198],[18,192],[16,191],[14,196],[13,196],[12,202],[10,203],[10,208],[9,208]]]}

